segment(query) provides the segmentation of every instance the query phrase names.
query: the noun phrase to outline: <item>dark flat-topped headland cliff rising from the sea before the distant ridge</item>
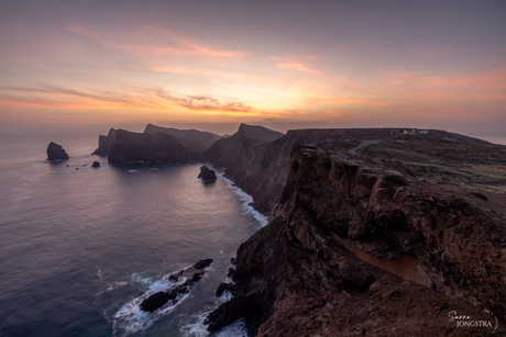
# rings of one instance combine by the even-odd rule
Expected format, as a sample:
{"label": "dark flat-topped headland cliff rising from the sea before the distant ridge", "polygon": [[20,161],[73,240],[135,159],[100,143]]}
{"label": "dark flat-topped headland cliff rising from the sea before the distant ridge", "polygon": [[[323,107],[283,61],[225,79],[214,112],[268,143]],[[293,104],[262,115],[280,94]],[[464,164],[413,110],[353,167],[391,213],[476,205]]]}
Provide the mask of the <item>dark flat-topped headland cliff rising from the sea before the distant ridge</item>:
{"label": "dark flat-topped headland cliff rising from the sea before the distant ridge", "polygon": [[140,134],[118,130],[108,158],[113,164],[168,164],[193,161],[197,156],[169,134]]}

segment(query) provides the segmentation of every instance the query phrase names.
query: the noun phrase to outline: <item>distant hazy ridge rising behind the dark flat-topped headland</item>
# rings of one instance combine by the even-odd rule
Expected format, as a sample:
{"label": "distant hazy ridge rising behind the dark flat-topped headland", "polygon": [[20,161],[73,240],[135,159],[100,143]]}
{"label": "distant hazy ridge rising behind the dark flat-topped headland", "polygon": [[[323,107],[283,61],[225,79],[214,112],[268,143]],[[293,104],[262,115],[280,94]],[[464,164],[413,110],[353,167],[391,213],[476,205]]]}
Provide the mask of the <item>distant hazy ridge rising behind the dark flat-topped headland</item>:
{"label": "distant hazy ridge rising behind the dark flat-topped headland", "polygon": [[198,130],[178,130],[174,127],[164,127],[164,126],[157,126],[153,124],[147,124],[146,127],[144,128],[145,134],[169,134],[174,138],[176,138],[180,144],[183,144],[185,147],[188,149],[195,151],[195,153],[200,153],[221,139],[220,135],[210,133],[210,132],[205,132],[205,131],[198,131]]}

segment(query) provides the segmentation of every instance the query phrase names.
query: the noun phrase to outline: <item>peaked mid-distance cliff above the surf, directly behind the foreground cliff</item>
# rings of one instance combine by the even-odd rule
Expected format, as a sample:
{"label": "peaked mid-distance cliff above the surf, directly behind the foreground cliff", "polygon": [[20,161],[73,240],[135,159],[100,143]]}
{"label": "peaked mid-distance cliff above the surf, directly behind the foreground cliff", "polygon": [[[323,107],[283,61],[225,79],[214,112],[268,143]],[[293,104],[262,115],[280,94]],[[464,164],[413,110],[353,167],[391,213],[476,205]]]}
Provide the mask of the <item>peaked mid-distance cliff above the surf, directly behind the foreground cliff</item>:
{"label": "peaked mid-distance cliff above the surf, directly behind the foreground cliff", "polygon": [[311,128],[277,132],[241,124],[231,137],[215,143],[202,159],[226,167],[227,175],[253,196],[255,207],[268,213],[283,190],[294,145],[316,144],[322,148],[344,150],[359,139],[378,139],[398,133],[396,128]]}

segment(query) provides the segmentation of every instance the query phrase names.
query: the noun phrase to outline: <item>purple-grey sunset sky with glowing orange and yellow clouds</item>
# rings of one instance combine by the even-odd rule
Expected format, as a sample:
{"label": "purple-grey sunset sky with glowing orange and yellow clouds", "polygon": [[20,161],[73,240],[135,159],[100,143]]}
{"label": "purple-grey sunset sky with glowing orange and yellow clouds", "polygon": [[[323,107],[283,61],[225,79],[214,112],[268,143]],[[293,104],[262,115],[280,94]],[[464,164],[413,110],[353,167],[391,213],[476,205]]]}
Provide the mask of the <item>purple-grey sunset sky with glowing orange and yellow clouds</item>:
{"label": "purple-grey sunset sky with glowing orange and yellow clouds", "polygon": [[1,1],[0,132],[249,123],[506,138],[505,16],[503,0]]}

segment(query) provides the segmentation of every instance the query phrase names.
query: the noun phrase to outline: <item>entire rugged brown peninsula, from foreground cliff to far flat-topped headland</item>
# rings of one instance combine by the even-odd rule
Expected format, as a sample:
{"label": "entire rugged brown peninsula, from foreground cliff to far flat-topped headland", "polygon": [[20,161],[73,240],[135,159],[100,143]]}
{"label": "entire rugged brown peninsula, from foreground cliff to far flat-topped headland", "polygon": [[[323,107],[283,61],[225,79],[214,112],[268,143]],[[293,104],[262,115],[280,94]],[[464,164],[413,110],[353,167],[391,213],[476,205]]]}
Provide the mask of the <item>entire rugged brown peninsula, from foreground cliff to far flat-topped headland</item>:
{"label": "entire rugged brown peninsula, from foreground cliff to far flat-topped headland", "polygon": [[139,160],[226,167],[270,214],[240,246],[234,283],[218,288],[233,296],[210,330],[245,318],[251,336],[504,334],[506,146],[432,130],[241,124],[193,151],[166,133],[118,131],[109,161]]}

